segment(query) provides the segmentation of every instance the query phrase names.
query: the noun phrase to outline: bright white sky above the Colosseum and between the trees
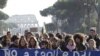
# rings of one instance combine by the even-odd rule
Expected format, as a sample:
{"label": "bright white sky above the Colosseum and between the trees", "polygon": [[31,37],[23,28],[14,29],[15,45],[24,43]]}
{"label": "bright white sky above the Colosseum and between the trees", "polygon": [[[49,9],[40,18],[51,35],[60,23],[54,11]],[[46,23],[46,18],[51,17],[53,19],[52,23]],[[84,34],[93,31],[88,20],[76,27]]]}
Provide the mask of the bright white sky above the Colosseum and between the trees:
{"label": "bright white sky above the Colosseum and between the trees", "polygon": [[3,9],[3,12],[12,15],[24,15],[34,14],[39,22],[40,26],[45,23],[50,23],[51,16],[43,17],[39,11],[49,6],[52,6],[57,0],[8,0],[7,6]]}

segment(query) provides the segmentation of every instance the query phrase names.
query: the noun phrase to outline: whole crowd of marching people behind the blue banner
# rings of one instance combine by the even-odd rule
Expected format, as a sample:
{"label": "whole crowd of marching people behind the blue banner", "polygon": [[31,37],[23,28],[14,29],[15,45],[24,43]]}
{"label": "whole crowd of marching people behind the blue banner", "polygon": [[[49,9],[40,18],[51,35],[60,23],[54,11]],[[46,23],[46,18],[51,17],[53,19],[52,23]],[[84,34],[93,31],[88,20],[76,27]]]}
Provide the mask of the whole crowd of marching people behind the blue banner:
{"label": "whole crowd of marching people behind the blue banner", "polygon": [[43,33],[32,34],[25,31],[24,35],[12,35],[7,32],[0,38],[0,48],[33,48],[61,51],[99,51],[100,38],[96,29],[90,29],[89,34],[84,33]]}

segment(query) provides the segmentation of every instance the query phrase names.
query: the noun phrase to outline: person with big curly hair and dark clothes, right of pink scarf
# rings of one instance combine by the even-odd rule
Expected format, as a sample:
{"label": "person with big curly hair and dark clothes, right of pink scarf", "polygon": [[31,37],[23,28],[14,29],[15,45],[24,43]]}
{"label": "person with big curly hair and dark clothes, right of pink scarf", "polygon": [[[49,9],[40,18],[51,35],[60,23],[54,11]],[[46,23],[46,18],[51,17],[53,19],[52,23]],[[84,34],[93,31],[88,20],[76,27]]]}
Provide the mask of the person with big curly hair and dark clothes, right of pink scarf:
{"label": "person with big curly hair and dark clothes, right of pink scarf", "polygon": [[82,33],[76,33],[74,34],[74,40],[76,43],[76,51],[85,51],[87,50],[87,47],[85,44],[83,44],[84,42],[84,38],[85,36],[83,36],[84,34]]}

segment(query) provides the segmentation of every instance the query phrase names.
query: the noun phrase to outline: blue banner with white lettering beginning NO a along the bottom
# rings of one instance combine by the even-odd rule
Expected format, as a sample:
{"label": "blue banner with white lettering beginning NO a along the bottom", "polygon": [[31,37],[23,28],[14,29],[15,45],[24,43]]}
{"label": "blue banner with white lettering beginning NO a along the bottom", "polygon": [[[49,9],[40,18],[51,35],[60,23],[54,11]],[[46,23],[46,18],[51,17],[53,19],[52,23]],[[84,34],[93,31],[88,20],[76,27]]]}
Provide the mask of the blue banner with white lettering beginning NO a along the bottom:
{"label": "blue banner with white lettering beginning NO a along the bottom", "polygon": [[100,56],[100,51],[74,51],[45,49],[1,49],[0,56]]}

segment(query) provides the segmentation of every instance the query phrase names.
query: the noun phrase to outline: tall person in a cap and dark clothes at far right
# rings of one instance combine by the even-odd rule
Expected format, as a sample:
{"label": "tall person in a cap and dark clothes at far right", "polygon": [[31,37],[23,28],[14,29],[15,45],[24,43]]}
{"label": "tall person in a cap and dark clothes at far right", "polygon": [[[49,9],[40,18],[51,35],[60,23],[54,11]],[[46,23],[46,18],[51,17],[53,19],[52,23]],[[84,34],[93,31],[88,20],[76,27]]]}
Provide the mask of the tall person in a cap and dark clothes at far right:
{"label": "tall person in a cap and dark clothes at far right", "polygon": [[99,48],[100,46],[100,38],[96,32],[96,28],[95,27],[91,27],[90,28],[90,34],[89,34],[89,38],[87,39],[87,42],[90,40],[90,39],[94,39],[96,41],[96,48]]}

